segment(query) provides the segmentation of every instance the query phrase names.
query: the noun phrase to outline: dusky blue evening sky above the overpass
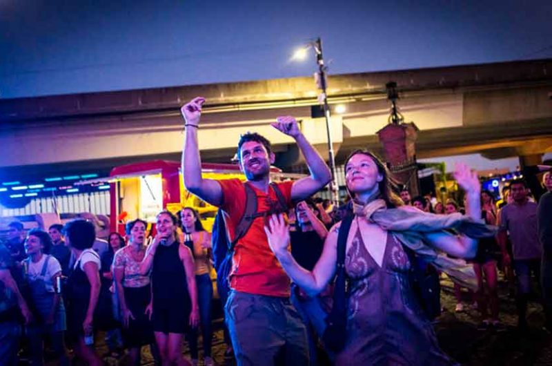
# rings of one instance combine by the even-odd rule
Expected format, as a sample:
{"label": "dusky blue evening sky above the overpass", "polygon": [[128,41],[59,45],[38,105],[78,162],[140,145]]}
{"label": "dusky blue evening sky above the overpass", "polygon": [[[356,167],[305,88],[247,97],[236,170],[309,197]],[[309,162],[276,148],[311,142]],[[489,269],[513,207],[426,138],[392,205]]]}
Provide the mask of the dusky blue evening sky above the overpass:
{"label": "dusky blue evening sky above the overpass", "polygon": [[[424,3],[423,5],[418,2]],[[552,1],[0,0],[0,97],[552,57]],[[331,82],[331,81],[330,81]]]}

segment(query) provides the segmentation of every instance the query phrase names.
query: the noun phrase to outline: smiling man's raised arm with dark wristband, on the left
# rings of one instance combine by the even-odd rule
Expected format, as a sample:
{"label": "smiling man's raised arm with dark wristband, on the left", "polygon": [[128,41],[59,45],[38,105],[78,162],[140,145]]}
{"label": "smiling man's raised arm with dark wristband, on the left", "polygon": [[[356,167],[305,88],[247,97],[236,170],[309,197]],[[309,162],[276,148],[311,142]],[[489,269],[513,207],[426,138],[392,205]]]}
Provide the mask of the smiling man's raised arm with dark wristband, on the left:
{"label": "smiling man's raised arm with dark wristband, on the left", "polygon": [[201,177],[201,158],[197,146],[197,128],[201,118],[201,106],[205,103],[202,97],[192,99],[181,108],[182,117],[186,123],[184,148],[182,150],[182,175],[184,186],[191,193],[197,195],[210,204],[219,206],[222,203],[222,189],[216,180]]}

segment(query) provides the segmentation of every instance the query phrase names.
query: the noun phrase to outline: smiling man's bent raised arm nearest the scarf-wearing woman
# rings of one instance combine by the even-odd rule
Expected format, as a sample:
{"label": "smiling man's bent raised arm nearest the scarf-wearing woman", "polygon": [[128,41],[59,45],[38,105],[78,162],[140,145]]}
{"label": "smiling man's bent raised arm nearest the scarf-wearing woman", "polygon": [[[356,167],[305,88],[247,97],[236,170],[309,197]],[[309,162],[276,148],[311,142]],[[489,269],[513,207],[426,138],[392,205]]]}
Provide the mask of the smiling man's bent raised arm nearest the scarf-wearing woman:
{"label": "smiling man's bent raised arm nearest the scarf-wearing woman", "polygon": [[295,139],[299,150],[301,150],[305,157],[308,170],[311,171],[311,176],[304,177],[293,183],[291,187],[292,200],[304,200],[331,181],[332,173],[330,172],[330,168],[328,168],[311,143],[307,141],[303,133],[299,131],[295,118],[290,116],[278,117],[277,122],[272,124],[272,126]]}

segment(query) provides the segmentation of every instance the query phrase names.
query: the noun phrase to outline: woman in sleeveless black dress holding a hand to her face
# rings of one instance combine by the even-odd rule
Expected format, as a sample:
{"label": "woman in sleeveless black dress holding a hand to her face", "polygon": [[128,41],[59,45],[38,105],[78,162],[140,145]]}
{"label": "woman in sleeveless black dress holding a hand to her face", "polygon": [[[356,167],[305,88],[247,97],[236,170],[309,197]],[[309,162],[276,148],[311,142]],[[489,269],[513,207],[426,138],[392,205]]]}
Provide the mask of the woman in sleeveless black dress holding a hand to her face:
{"label": "woman in sleeveless black dress holding a hand to her face", "polygon": [[157,215],[157,235],[146,251],[141,273],[152,276],[152,324],[161,360],[186,364],[181,343],[188,327],[197,327],[199,307],[193,255],[177,240],[177,218],[169,211]]}

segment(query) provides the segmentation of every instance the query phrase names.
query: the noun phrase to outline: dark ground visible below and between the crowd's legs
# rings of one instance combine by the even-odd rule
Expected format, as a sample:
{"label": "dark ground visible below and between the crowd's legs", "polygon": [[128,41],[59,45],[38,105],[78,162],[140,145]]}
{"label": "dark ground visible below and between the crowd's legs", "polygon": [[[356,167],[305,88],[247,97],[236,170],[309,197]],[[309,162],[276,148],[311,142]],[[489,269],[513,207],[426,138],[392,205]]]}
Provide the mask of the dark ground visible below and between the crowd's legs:
{"label": "dark ground visible below and between the crowd's legs", "polygon": [[[445,311],[437,319],[435,330],[441,347],[462,365],[552,365],[552,336],[542,329],[544,318],[542,307],[538,302],[529,305],[529,330],[517,331],[515,325],[515,302],[509,298],[504,282],[500,282],[500,320],[504,323],[502,331],[477,330],[479,318],[477,311],[471,309],[466,295],[465,309],[457,314],[452,283],[442,280],[442,305]],[[213,336],[213,358],[218,365],[235,365],[233,360],[225,359],[226,345],[222,340],[221,320],[215,321]],[[103,342],[98,351],[103,354],[106,347]],[[200,343],[201,344],[201,343]],[[147,347],[146,347],[147,348]],[[153,365],[148,349],[144,348],[142,365]],[[184,345],[184,354],[189,357],[188,347]],[[118,363],[115,359],[108,359],[112,365],[128,365],[128,359],[123,357]],[[50,363],[49,365],[55,365]]]}

